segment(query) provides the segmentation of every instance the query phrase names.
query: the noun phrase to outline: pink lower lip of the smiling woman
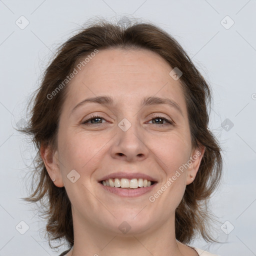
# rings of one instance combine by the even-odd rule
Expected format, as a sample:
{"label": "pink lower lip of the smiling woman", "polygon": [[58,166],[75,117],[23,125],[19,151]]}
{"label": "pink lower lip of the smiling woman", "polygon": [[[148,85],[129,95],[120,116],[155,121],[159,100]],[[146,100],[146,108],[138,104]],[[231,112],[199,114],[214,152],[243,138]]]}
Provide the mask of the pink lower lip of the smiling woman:
{"label": "pink lower lip of the smiling woman", "polygon": [[101,185],[105,190],[111,193],[117,194],[119,196],[136,197],[151,191],[156,185],[156,182],[150,186],[138,187],[138,188],[119,188],[119,187],[104,186],[100,182],[99,182],[99,185]]}

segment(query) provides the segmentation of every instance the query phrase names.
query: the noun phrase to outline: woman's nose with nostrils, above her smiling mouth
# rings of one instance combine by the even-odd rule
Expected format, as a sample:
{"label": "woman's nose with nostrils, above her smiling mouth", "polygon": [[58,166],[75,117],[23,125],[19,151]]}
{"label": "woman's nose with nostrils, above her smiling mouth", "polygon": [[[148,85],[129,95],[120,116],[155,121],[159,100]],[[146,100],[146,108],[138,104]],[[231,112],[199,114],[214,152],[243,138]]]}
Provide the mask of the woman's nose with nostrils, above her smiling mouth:
{"label": "woman's nose with nostrils, above her smiling mouth", "polygon": [[111,146],[111,156],[126,161],[141,161],[148,156],[149,148],[145,136],[136,125],[131,125],[126,131],[117,127]]}

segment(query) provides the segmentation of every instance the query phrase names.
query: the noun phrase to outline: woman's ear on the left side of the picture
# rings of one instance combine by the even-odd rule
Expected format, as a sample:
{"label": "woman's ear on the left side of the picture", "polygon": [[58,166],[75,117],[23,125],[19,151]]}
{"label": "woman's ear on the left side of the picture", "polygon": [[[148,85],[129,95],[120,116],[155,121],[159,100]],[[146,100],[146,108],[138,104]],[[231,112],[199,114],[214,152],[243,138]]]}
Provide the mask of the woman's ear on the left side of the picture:
{"label": "woman's ear on the left side of the picture", "polygon": [[54,182],[52,181],[52,182],[58,187],[64,186],[60,167],[59,167],[57,150],[55,151],[52,150],[49,145],[47,146],[41,145],[40,155],[51,180],[55,178],[55,181]]}

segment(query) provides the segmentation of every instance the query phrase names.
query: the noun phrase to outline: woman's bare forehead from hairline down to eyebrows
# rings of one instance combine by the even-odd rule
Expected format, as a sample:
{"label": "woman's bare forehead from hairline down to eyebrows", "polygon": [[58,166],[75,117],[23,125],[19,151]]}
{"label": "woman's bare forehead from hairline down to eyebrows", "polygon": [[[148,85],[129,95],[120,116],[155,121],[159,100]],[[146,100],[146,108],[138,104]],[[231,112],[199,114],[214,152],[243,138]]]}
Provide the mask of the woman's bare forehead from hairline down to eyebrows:
{"label": "woman's bare forehead from hairline down to eyebrows", "polygon": [[169,75],[171,69],[166,60],[147,49],[99,50],[68,84],[67,104],[72,107],[98,95],[111,95],[120,104],[158,96],[173,99],[184,108],[181,84]]}

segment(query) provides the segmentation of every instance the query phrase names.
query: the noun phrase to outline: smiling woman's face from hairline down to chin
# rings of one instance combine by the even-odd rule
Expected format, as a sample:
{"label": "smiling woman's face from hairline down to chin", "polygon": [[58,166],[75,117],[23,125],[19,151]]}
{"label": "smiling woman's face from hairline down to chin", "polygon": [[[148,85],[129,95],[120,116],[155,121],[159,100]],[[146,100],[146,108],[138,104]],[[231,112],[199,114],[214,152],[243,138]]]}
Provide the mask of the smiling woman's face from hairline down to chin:
{"label": "smiling woman's face from hairline down to chin", "polygon": [[[105,49],[66,85],[54,154],[59,165],[52,163],[52,176],[56,186],[65,186],[76,223],[113,233],[125,228],[141,233],[174,219],[203,152],[191,147],[184,95],[171,70],[148,50]],[[112,102],[87,101],[75,107],[100,96]],[[92,115],[99,117],[88,120]],[[141,184],[139,178],[154,184],[104,186],[101,181],[108,175],[118,178],[116,186],[127,177],[135,187],[136,181]]]}

